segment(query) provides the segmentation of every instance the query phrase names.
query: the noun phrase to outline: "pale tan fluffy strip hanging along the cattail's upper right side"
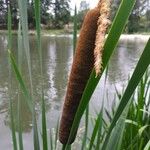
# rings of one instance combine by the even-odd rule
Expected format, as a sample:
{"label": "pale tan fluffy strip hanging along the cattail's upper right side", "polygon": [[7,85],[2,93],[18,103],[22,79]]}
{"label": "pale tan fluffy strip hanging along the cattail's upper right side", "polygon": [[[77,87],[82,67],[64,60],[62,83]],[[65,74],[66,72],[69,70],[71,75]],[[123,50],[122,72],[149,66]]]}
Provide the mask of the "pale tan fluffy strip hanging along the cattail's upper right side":
{"label": "pale tan fluffy strip hanging along the cattail's upper right side", "polygon": [[100,11],[100,16],[98,19],[98,29],[96,33],[94,57],[95,63],[94,68],[96,72],[96,77],[101,73],[102,70],[102,53],[105,43],[105,35],[108,26],[110,25],[110,6],[111,0],[100,0],[97,7]]}

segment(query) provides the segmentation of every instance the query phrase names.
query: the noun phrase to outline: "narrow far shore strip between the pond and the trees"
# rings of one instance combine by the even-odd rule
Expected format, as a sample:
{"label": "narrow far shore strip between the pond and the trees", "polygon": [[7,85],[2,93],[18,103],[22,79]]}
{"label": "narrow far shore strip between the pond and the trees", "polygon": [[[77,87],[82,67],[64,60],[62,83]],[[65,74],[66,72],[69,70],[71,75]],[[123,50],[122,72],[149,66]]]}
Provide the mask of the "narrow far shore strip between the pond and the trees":
{"label": "narrow far shore strip between the pond and the trees", "polygon": [[[12,34],[17,34],[17,30],[12,30]],[[78,31],[79,33],[80,31]],[[0,30],[0,34],[7,34],[7,30]],[[63,29],[60,30],[41,30],[42,36],[70,36],[72,32],[66,32]],[[29,35],[36,35],[35,30],[29,30]],[[78,34],[79,35],[79,34]],[[150,38],[150,33],[134,33],[134,34],[122,34],[120,40],[140,40],[146,41]]]}

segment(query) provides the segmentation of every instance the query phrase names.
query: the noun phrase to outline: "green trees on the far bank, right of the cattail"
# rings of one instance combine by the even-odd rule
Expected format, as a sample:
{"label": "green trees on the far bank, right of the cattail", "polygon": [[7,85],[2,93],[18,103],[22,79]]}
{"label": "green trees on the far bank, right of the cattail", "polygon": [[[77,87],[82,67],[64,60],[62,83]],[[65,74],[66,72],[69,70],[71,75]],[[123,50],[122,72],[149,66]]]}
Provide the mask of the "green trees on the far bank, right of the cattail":
{"label": "green trees on the far bank, right of the cattail", "polygon": [[[118,9],[122,0],[114,0],[113,10]],[[136,0],[134,9],[129,17],[126,32],[149,32],[150,31],[150,0]]]}

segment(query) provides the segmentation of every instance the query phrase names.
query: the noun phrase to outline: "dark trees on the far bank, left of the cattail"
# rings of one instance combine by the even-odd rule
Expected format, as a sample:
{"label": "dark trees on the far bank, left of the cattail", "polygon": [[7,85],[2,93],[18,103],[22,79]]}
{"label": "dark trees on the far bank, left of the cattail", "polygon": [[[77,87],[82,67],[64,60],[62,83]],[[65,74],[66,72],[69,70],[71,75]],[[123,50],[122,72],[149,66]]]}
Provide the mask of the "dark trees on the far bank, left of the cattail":
{"label": "dark trees on the far bank, left of the cattail", "polygon": [[[60,29],[70,21],[70,0],[41,0],[41,24]],[[0,28],[7,28],[8,7],[12,15],[12,27],[17,29],[19,21],[18,0],[0,0]],[[29,28],[35,27],[34,0],[27,0]]]}

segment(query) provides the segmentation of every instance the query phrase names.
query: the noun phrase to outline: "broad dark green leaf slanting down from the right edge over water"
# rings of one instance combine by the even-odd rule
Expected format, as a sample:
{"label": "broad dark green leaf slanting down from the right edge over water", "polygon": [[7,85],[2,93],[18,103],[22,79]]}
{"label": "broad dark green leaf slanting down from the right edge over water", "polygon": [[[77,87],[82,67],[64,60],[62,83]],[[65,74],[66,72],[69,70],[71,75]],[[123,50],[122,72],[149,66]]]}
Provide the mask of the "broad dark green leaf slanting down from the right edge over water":
{"label": "broad dark green leaf slanting down from the right edge over water", "polygon": [[121,99],[121,102],[118,106],[118,109],[116,111],[116,114],[112,120],[112,123],[110,125],[108,134],[106,136],[104,145],[103,145],[103,150],[106,148],[106,145],[108,143],[110,134],[112,132],[112,129],[114,128],[114,126],[116,125],[116,122],[118,121],[120,115],[122,114],[124,108],[126,107],[129,99],[131,98],[132,94],[134,93],[136,87],[138,86],[141,78],[143,77],[145,71],[147,70],[149,64],[150,64],[150,39],[147,42],[147,45],[142,53],[142,56],[134,70],[134,73],[129,81],[129,84],[125,90],[125,93]]}

